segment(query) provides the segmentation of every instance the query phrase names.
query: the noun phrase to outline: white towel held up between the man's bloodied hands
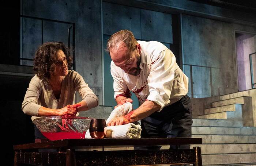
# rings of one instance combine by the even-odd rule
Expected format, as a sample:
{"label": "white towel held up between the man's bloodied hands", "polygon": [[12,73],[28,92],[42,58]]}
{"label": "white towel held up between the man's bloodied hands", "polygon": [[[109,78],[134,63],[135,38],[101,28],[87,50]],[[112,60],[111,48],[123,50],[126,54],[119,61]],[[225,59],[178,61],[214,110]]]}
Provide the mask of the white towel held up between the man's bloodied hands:
{"label": "white towel held up between the man's bloodied hands", "polygon": [[110,115],[109,118],[106,120],[106,124],[108,124],[112,119],[119,116],[124,116],[127,113],[132,111],[132,103],[127,102],[123,105],[118,106],[116,109],[114,109]]}

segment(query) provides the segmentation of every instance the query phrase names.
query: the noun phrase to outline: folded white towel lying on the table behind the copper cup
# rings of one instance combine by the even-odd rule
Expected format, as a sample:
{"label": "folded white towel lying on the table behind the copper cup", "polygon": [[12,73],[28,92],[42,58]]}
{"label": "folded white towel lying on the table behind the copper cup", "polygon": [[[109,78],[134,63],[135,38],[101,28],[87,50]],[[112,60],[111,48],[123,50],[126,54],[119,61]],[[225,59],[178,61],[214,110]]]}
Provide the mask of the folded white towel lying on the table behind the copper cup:
{"label": "folded white towel lying on the table behind the copper cup", "polygon": [[[119,126],[108,126],[106,138],[140,138],[141,126],[139,124],[128,123]],[[85,138],[91,138],[89,130],[86,131]]]}

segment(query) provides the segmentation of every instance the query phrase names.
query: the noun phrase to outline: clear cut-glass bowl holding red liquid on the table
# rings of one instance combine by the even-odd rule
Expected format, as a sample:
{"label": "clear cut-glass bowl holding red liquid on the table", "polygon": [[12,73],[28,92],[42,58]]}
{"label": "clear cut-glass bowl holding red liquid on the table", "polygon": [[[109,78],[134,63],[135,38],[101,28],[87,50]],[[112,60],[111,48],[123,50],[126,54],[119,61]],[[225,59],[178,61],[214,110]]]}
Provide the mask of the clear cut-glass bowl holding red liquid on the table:
{"label": "clear cut-glass bowl holding red liquid on the table", "polygon": [[34,119],[33,123],[49,140],[83,139],[91,119],[94,118],[47,116]]}

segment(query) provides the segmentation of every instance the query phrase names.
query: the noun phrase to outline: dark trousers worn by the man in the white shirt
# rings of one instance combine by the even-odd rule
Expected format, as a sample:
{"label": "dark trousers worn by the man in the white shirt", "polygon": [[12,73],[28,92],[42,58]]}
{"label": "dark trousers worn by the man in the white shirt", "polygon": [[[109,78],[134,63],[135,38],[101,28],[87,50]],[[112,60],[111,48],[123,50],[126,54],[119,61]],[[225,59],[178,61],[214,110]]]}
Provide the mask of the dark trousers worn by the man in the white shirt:
{"label": "dark trousers worn by the man in the white shirt", "polygon": [[[160,112],[154,112],[141,120],[142,138],[191,137],[192,105],[189,96],[168,105]],[[157,150],[161,146],[134,147],[135,150]],[[187,149],[190,145],[170,145],[170,149]]]}

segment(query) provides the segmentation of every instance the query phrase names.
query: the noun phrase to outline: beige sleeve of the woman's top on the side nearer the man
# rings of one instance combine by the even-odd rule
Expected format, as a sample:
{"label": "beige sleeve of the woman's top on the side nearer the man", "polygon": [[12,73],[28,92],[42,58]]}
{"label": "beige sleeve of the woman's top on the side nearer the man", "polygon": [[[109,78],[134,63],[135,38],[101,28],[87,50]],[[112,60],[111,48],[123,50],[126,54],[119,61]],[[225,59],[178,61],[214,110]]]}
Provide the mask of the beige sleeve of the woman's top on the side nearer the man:
{"label": "beige sleeve of the woman's top on the side nearer the man", "polygon": [[86,102],[88,109],[97,107],[97,105],[99,104],[98,97],[93,93],[93,90],[89,88],[88,84],[85,83],[83,77],[80,76],[80,74],[78,73],[76,73],[74,79],[74,88],[82,97],[83,101]]}

